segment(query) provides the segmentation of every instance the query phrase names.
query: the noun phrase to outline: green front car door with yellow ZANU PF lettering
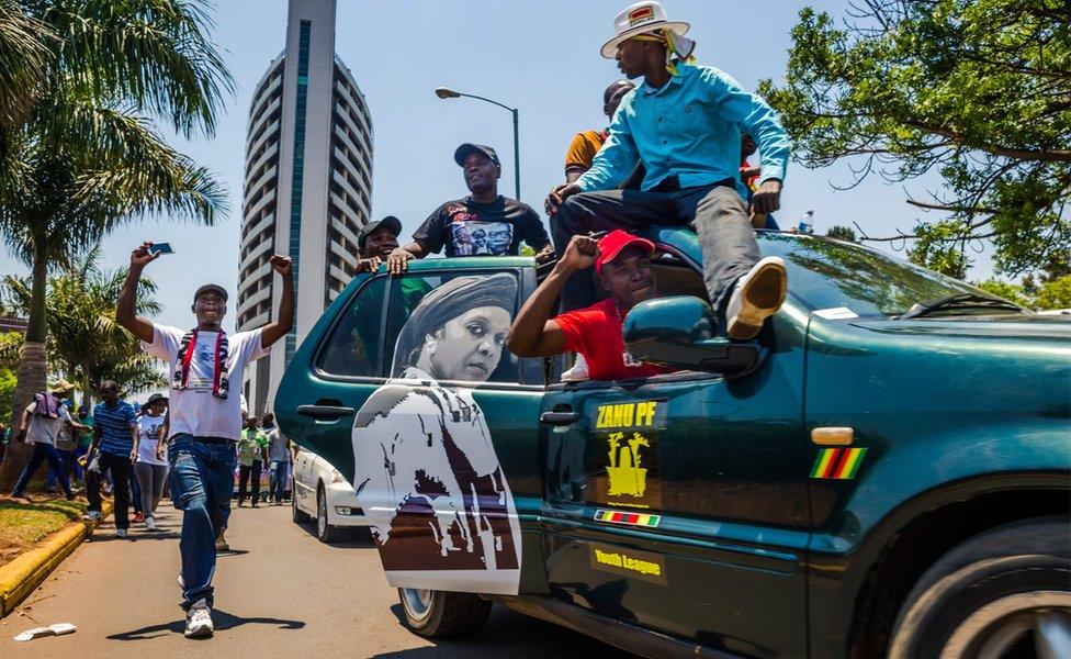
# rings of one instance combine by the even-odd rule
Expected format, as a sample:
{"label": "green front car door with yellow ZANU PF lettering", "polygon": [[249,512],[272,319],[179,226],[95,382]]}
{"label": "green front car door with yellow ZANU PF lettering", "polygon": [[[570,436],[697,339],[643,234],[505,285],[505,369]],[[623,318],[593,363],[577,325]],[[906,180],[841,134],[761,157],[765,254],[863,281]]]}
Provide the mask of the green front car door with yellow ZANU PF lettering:
{"label": "green front car door with yellow ZANU PF lettering", "polygon": [[559,386],[543,401],[550,589],[748,656],[804,656],[803,333],[744,377]]}

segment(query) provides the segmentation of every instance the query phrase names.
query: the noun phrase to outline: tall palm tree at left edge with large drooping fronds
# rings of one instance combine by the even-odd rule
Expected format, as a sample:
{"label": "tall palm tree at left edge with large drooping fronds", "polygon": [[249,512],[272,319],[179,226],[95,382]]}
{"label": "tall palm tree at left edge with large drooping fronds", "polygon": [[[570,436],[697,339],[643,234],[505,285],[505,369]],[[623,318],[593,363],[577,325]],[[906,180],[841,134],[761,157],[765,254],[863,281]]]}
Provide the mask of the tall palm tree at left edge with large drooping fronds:
{"label": "tall palm tree at left edge with large drooping fronds", "polygon": [[[0,0],[8,1],[10,0]],[[169,147],[153,120],[211,136],[229,74],[206,34],[203,0],[21,0],[48,52],[32,108],[3,129],[13,176],[0,177],[0,235],[31,268],[29,330],[14,410],[45,386],[50,268],[149,214],[213,224],[223,189]],[[7,16],[5,16],[7,18]],[[0,62],[2,64],[2,62]],[[3,80],[0,78],[0,93]],[[0,468],[15,478],[21,447]]]}

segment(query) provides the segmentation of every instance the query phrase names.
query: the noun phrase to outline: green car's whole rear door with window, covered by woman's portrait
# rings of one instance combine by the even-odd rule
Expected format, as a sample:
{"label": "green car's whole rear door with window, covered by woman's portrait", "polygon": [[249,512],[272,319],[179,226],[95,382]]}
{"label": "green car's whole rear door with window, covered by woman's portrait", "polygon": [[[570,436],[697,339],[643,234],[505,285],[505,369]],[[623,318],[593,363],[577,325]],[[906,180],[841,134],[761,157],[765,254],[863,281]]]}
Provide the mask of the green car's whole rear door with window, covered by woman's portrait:
{"label": "green car's whole rear door with window, covered by woman's portrait", "polygon": [[352,482],[387,581],[545,592],[537,526],[542,361],[505,350],[533,283],[531,261],[415,266],[391,280],[383,364],[392,378],[352,425]]}

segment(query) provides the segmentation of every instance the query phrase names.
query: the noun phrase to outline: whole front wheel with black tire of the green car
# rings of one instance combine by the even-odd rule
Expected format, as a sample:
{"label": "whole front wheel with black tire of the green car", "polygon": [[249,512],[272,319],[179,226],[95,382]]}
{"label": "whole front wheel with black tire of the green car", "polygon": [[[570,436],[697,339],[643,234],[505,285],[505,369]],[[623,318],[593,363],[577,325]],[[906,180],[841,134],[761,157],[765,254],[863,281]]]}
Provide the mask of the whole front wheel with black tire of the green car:
{"label": "whole front wheel with black tire of the green car", "polygon": [[1071,657],[1066,517],[1001,526],[960,544],[912,589],[890,659]]}

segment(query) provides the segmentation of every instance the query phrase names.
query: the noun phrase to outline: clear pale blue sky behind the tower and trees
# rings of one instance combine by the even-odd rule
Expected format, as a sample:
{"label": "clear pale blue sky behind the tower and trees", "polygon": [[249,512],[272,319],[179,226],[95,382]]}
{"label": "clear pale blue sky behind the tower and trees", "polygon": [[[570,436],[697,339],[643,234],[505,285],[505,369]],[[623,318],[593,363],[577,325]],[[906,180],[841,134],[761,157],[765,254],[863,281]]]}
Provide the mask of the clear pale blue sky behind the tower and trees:
{"label": "clear pale blue sky behind the tower and trees", "polygon": [[[488,144],[503,160],[499,190],[514,194],[512,122],[509,112],[473,99],[441,100],[446,86],[488,97],[520,112],[521,200],[543,214],[543,199],[563,182],[563,158],[573,135],[601,129],[604,88],[620,77],[599,47],[612,36],[613,16],[628,0],[338,0],[335,49],[364,92],[374,132],[372,216],[397,215],[403,239],[448,199],[467,191],[454,148]],[[699,64],[736,78],[744,89],[779,81],[788,62],[790,31],[804,5],[843,16],[847,0],[665,0],[670,20],[690,22]],[[203,282],[237,290],[241,181],[249,102],[268,64],[283,48],[285,0],[221,0],[213,40],[235,78],[214,138],[171,143],[214,171],[230,197],[230,213],[215,226],[146,219],[103,243],[104,266],[125,267],[142,241],[170,242],[176,254],[146,269],[164,306],[157,321],[190,326],[190,301]],[[170,134],[169,134],[170,135]],[[871,177],[847,191],[848,163],[808,170],[791,164],[777,213],[781,226],[814,210],[815,233],[857,222],[869,235],[912,230],[922,211],[904,203],[925,198],[935,178],[887,185]],[[928,187],[928,188],[927,188]],[[545,219],[544,219],[545,220]],[[895,244],[878,248],[893,253]],[[972,279],[992,272],[989,250],[973,255]],[[0,273],[29,269],[0,252]],[[226,330],[234,328],[232,305]]]}

